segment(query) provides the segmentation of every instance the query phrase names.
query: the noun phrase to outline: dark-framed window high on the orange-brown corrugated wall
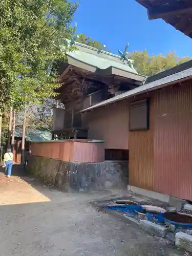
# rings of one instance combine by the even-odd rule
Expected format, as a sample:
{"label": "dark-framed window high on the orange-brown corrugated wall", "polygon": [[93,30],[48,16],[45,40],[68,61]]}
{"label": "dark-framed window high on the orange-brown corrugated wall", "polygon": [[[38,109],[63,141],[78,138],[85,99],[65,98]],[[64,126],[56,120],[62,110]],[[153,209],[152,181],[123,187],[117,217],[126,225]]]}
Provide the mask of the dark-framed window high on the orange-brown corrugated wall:
{"label": "dark-framed window high on the orange-brown corrugated wall", "polygon": [[133,102],[129,105],[130,131],[150,129],[149,99]]}

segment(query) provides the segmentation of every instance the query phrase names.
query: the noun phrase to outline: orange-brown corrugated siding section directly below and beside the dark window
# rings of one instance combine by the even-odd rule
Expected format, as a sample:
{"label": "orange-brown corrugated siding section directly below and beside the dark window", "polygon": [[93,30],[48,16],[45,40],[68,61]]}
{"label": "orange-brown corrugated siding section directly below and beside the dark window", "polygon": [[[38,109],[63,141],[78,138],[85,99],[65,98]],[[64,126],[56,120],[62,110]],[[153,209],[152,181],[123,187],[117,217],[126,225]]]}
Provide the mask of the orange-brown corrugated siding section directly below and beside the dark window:
{"label": "orange-brown corrugated siding section directly below and beside the dark window", "polygon": [[129,184],[149,190],[154,187],[153,100],[150,130],[129,132]]}

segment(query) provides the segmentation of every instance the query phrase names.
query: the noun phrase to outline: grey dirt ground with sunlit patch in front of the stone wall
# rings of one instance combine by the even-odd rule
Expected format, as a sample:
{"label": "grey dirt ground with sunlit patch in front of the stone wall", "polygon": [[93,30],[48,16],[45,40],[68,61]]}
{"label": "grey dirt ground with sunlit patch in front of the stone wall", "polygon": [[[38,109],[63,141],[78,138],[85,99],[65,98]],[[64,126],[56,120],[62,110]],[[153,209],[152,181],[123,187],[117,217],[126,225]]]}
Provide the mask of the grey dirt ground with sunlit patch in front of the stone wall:
{"label": "grey dirt ground with sunlit patch in front of the stone wall", "polygon": [[1,256],[185,255],[163,239],[88,205],[121,191],[67,194],[19,170],[13,175],[9,179],[0,173]]}

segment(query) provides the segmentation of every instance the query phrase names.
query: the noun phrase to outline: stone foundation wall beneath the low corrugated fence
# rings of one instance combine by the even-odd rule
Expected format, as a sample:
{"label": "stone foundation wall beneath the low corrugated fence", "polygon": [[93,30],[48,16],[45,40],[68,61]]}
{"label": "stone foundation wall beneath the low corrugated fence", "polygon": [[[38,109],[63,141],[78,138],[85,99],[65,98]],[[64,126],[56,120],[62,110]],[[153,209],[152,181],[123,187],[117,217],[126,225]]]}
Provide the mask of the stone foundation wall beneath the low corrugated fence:
{"label": "stone foundation wall beneath the low corrugated fence", "polygon": [[70,163],[37,156],[31,156],[28,171],[64,191],[126,189],[129,174],[126,161]]}

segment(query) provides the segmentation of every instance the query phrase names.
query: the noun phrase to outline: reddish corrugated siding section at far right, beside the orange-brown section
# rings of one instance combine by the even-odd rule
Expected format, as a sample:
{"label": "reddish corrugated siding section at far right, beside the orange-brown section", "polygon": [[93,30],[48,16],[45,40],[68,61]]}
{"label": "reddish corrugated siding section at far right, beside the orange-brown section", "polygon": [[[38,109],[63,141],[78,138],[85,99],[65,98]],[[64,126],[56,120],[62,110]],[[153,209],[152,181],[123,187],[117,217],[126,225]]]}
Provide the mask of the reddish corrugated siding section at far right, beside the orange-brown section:
{"label": "reddish corrugated siding section at far right, beside the orange-brown section", "polygon": [[192,200],[192,83],[156,91],[154,190]]}

